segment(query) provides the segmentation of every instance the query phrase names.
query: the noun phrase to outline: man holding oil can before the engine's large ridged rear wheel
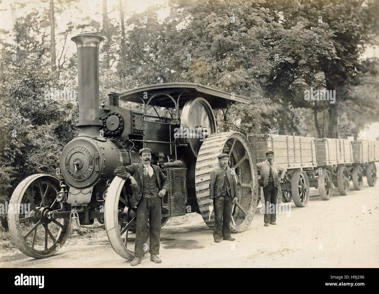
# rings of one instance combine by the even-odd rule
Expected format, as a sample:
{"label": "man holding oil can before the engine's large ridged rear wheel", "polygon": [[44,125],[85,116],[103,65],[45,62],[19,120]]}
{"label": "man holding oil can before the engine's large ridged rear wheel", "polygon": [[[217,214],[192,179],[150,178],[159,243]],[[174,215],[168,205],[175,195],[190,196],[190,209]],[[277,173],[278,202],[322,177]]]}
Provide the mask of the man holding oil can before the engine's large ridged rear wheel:
{"label": "man holding oil can before the engine's large ridged rear wheel", "polygon": [[211,172],[209,183],[209,203],[215,207],[213,239],[216,243],[219,243],[221,238],[235,240],[230,235],[230,221],[232,220],[232,204],[238,201],[237,182],[228,166],[229,155],[221,153],[218,161],[219,165]]}

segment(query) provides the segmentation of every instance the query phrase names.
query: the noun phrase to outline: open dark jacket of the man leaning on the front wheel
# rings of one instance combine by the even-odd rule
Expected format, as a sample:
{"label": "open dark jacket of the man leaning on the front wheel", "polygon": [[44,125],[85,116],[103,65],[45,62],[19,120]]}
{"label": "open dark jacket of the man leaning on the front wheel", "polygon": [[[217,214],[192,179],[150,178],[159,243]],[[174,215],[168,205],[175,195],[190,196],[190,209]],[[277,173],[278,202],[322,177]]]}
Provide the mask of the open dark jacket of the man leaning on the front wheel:
{"label": "open dark jacket of the man leaning on the front wheel", "polygon": [[[151,164],[151,166],[157,176],[157,187],[159,191],[161,189],[169,191],[169,178],[163,174],[159,166],[154,164]],[[141,200],[143,191],[143,168],[144,166],[142,163],[133,163],[128,166],[117,167],[117,169],[114,170],[115,174],[124,180],[127,180],[129,176],[132,175],[138,184],[137,188],[132,188],[133,196],[130,198],[130,206],[132,206],[132,208],[139,203],[139,200]]]}

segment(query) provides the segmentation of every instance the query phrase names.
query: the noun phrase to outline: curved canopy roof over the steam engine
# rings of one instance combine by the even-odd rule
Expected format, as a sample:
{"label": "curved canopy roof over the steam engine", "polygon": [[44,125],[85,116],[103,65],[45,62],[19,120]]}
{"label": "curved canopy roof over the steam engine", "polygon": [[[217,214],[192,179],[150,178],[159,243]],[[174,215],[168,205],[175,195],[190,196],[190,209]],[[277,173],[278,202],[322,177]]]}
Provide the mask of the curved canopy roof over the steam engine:
{"label": "curved canopy roof over the steam engine", "polygon": [[[146,95],[146,93],[147,95]],[[161,83],[134,88],[119,94],[120,100],[181,109],[193,98],[203,97],[213,109],[229,108],[235,102],[250,104],[250,98],[197,83]],[[145,98],[144,98],[145,97]]]}

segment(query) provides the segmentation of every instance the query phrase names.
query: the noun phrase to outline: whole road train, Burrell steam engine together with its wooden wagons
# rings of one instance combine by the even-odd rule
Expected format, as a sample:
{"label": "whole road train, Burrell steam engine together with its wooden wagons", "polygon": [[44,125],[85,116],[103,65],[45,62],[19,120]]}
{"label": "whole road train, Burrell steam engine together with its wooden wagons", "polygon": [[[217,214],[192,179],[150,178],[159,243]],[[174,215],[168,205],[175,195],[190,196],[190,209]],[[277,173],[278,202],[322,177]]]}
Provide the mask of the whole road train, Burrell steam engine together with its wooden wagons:
{"label": "whole road train, Burrell steam engine together with its wooden wagons", "polygon": [[[63,149],[60,180],[48,174],[25,178],[14,190],[9,207],[30,205],[30,213],[8,211],[9,231],[16,246],[26,255],[44,258],[58,252],[70,231],[90,225],[97,219],[113,249],[123,258],[134,258],[135,208],[130,205],[129,180],[116,177],[118,166],[140,162],[138,150],[149,147],[152,163],[169,178],[169,191],[163,197],[163,226],[169,217],[196,212],[208,227],[210,172],[217,156],[227,153],[230,167],[238,178],[239,197],[232,211],[230,227],[242,232],[249,227],[258,202],[259,180],[256,163],[265,160],[267,148],[275,150],[276,160],[287,169],[281,183],[285,201],[297,206],[309,200],[309,187],[329,199],[332,182],[343,193],[352,178],[362,186],[367,176],[376,183],[377,142],[340,139],[313,139],[299,136],[246,136],[237,131],[218,132],[214,109],[234,103],[250,103],[240,95],[194,83],[162,83],[125,92],[110,92],[108,103],[99,100],[99,45],[101,36],[81,33],[72,38],[77,45],[79,134]],[[125,109],[121,101],[141,103],[143,111]],[[171,115],[148,115],[155,106],[171,109]],[[226,120],[226,116],[224,116]],[[191,130],[196,136],[188,136]],[[179,132],[179,134],[178,134]],[[352,148],[351,148],[352,147]],[[353,152],[351,154],[351,152]],[[146,232],[149,244],[149,228]],[[145,253],[149,251],[147,246]]]}

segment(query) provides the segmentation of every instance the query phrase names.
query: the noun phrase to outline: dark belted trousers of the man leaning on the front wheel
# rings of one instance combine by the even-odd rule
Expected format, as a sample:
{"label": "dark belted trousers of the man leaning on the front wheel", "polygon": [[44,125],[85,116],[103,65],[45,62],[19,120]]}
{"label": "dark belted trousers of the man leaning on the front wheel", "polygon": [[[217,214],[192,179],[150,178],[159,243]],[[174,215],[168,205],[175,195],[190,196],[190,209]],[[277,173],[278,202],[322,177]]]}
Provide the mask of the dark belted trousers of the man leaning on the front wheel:
{"label": "dark belted trousers of the man leaning on the front wheel", "polygon": [[143,257],[146,243],[147,220],[150,220],[150,250],[151,254],[159,254],[161,238],[161,197],[141,198],[137,205],[135,256]]}

